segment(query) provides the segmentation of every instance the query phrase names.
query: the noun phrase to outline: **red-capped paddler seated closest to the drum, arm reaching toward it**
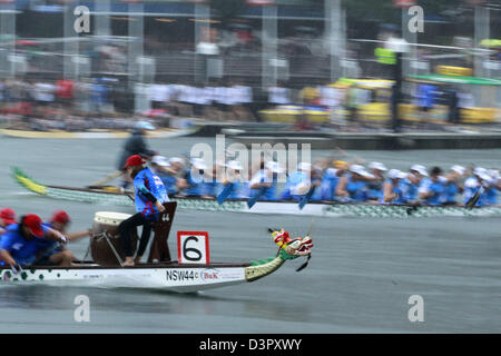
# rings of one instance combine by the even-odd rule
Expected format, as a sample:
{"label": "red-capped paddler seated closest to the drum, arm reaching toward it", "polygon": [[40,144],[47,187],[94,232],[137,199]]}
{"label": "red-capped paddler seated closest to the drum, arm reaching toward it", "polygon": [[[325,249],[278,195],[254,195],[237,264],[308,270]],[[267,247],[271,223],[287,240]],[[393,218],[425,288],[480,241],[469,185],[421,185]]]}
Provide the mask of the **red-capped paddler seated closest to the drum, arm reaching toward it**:
{"label": "red-capped paddler seated closest to the drum, arm reaching toward it", "polygon": [[[68,212],[65,210],[56,210],[52,212],[50,221],[45,222],[43,226],[63,234],[68,238],[68,241],[73,241],[90,235],[90,230],[67,234],[70,224],[71,219]],[[37,241],[39,251],[37,253],[37,260],[33,263],[36,266],[55,265],[69,267],[72,265],[72,261],[77,259],[69,248],[61,245],[58,246],[52,239],[42,238]]]}

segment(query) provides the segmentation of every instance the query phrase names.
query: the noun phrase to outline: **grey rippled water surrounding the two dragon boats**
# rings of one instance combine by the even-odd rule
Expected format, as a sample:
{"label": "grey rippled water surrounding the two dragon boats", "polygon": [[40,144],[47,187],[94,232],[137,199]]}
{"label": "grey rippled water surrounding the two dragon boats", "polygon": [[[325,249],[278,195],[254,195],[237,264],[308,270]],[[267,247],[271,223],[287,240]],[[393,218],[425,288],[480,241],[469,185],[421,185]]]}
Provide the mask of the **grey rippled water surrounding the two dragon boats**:
{"label": "grey rippled water surrounding the two dragon boats", "polygon": [[[173,156],[198,141],[157,139],[150,145]],[[17,186],[9,172],[16,165],[41,182],[85,186],[115,170],[121,145],[2,137],[0,205],[43,218],[63,208],[72,230],[90,227],[97,210],[128,211],[38,197]],[[501,150],[350,154],[400,169],[414,162],[499,167],[501,158]],[[302,261],[292,261],[262,280],[200,294],[0,286],[0,333],[499,333],[500,222],[315,218],[314,254],[303,271],[294,271]],[[305,234],[310,224],[308,217],[180,210],[173,231],[207,230],[214,261],[244,261],[274,255],[267,226]],[[87,241],[71,248],[82,257]],[[73,319],[73,299],[82,294],[90,298],[90,323]],[[423,297],[423,323],[407,318],[412,295]]]}

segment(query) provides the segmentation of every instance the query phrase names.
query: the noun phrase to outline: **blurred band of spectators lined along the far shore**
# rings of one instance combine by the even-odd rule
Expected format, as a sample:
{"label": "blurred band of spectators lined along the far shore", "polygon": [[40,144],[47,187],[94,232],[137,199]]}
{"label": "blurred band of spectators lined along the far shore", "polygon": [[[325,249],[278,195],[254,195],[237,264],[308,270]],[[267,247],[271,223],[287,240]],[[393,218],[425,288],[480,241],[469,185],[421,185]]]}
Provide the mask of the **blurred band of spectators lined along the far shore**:
{"label": "blurred band of spectators lined along the far shore", "polygon": [[[156,118],[160,127],[168,126],[168,118],[173,117],[255,122],[263,120],[265,109],[287,110],[288,107],[288,110],[330,115],[330,120],[317,126],[357,129],[363,126],[358,120],[363,106],[389,103],[393,95],[392,87],[336,86],[330,80],[303,88],[292,88],[279,81],[263,90],[238,79],[210,80],[206,85],[159,81],[143,88],[141,92],[132,92],[127,85],[112,78],[0,80],[0,113],[16,121],[19,129],[75,131],[128,129],[130,118],[137,116]],[[449,121],[459,122],[459,109],[474,106],[472,95],[458,87],[421,83],[414,88],[412,97],[404,98],[404,102],[414,103],[423,119],[441,105],[449,108]],[[138,96],[144,107],[150,109],[135,112]],[[313,127],[302,115],[297,116],[296,123],[302,129]]]}

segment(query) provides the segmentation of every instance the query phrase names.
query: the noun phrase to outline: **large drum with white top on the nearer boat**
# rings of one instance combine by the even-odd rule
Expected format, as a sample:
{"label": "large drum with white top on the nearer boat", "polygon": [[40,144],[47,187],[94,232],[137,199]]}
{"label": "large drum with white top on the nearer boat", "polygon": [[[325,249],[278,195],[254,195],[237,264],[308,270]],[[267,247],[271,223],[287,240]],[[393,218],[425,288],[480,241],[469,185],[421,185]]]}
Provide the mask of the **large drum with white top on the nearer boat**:
{"label": "large drum with white top on the nearer boat", "polygon": [[[118,226],[131,215],[114,211],[97,211],[94,217],[92,234],[90,236],[90,254],[92,260],[102,266],[118,266],[125,259],[125,254],[120,244],[120,233]],[[131,248],[136,251],[137,230],[131,231]],[[111,246],[112,247],[111,247]]]}

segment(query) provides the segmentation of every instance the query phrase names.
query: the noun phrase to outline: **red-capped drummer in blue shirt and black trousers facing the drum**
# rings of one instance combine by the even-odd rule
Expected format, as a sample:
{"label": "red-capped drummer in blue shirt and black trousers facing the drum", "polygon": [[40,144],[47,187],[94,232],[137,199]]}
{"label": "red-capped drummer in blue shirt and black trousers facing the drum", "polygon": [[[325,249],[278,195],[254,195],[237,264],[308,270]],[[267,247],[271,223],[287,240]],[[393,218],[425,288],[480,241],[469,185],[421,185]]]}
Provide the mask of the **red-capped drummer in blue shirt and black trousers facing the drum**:
{"label": "red-capped drummer in blue shirt and black trousers facing the drum", "polygon": [[[120,222],[121,248],[126,255],[122,266],[134,266],[139,263],[148,245],[153,225],[158,221],[159,212],[165,210],[164,202],[169,201],[167,190],[160,177],[155,175],[149,168],[145,168],[146,162],[139,155],[127,158],[124,169],[134,180],[135,204],[137,214]],[[131,231],[138,226],[143,226],[139,248],[134,259],[131,246]]]}

